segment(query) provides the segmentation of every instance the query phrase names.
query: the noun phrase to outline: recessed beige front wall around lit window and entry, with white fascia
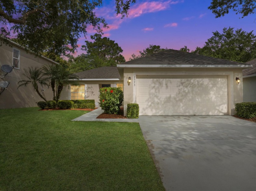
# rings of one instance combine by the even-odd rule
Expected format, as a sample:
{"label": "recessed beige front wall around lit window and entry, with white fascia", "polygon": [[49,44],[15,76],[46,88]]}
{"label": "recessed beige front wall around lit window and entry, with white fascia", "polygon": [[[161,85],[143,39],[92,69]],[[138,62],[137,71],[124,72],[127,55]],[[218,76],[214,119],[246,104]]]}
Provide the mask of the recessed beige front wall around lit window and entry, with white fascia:
{"label": "recessed beige front wall around lit window and entry, with white fascia", "polygon": [[[95,106],[99,107],[99,90],[102,84],[110,84],[111,87],[116,87],[116,84],[123,84],[123,81],[97,80],[97,81],[79,81],[79,84],[85,84],[85,99],[95,100]],[[70,88],[65,86],[61,93],[61,100],[70,100]]]}

